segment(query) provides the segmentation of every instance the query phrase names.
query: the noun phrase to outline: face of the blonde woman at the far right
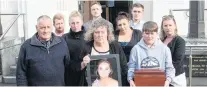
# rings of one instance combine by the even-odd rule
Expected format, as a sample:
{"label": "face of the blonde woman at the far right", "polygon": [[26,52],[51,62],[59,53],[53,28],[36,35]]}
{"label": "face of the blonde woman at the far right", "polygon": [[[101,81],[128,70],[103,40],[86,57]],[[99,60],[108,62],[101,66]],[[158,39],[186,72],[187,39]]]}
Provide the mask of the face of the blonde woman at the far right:
{"label": "face of the blonde woman at the far right", "polygon": [[162,27],[167,36],[175,35],[176,25],[173,20],[164,20]]}

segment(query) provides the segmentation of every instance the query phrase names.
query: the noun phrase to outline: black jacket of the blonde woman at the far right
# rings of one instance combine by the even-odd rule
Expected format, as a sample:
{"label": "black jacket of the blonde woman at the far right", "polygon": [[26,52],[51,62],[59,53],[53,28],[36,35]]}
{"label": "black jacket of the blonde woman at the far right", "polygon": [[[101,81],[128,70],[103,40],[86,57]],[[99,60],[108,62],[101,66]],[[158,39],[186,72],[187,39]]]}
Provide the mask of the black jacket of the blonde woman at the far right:
{"label": "black jacket of the blonde woman at the far right", "polygon": [[172,62],[176,71],[175,76],[184,73],[185,40],[180,36],[176,36],[168,43],[168,47],[172,54]]}

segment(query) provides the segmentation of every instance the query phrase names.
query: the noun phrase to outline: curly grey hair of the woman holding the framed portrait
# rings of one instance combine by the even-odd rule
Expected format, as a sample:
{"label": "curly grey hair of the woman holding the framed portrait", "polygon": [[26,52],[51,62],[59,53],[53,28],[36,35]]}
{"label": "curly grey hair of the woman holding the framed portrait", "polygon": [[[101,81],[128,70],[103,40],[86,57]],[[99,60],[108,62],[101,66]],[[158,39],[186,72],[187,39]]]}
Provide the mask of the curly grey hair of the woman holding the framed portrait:
{"label": "curly grey hair of the woman holding the framed portrait", "polygon": [[109,23],[105,19],[97,19],[92,22],[91,26],[89,29],[87,29],[87,32],[85,33],[85,40],[86,41],[92,41],[93,40],[93,33],[98,29],[99,27],[106,27],[107,29],[107,40],[108,42],[113,42],[114,41],[114,34],[112,32],[112,29],[109,27]]}

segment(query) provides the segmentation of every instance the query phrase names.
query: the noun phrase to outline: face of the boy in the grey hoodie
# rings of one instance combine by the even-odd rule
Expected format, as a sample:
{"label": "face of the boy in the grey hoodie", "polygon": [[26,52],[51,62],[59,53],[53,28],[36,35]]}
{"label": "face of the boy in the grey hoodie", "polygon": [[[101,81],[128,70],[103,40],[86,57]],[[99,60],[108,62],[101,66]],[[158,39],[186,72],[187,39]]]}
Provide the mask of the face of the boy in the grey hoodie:
{"label": "face of the boy in the grey hoodie", "polygon": [[144,40],[145,44],[147,44],[147,45],[154,44],[155,40],[157,39],[157,35],[158,35],[157,32],[146,32],[146,31],[144,31],[142,33],[143,40]]}

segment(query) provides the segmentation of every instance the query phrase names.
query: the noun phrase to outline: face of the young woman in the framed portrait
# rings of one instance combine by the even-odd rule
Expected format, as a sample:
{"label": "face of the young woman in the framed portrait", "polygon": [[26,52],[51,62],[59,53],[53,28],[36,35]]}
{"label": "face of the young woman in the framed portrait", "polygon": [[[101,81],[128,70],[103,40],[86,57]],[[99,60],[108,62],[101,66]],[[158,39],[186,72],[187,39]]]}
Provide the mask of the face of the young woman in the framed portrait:
{"label": "face of the young woman in the framed portrait", "polygon": [[98,73],[99,73],[100,78],[109,77],[110,72],[111,72],[111,69],[108,63],[102,62],[101,64],[99,64]]}

